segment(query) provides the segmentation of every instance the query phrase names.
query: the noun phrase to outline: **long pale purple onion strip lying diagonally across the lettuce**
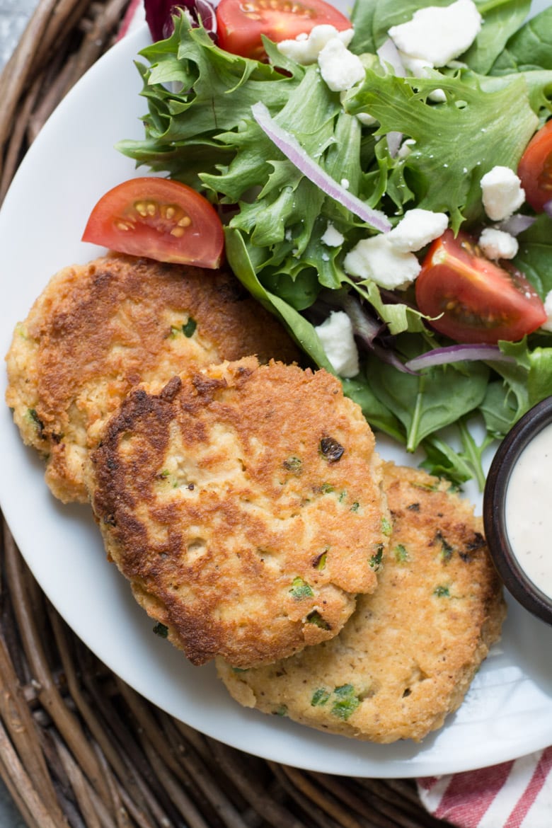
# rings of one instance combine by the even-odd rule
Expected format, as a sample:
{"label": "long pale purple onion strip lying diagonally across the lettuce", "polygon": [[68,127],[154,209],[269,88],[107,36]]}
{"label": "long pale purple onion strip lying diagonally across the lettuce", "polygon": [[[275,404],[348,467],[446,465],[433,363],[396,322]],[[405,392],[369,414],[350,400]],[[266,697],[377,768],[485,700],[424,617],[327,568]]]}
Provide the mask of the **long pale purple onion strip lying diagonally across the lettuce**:
{"label": "long pale purple onion strip lying diagonally across the lettuce", "polygon": [[271,139],[271,141],[284,153],[286,158],[303,173],[303,175],[312,181],[320,190],[323,190],[330,198],[338,201],[346,209],[349,209],[355,215],[358,215],[362,221],[370,224],[375,230],[380,230],[382,233],[387,233],[391,230],[391,224],[387,220],[386,214],[381,210],[372,209],[368,207],[362,200],[357,198],[353,193],[349,193],[343,186],[339,185],[332,176],[329,176],[310,155],[305,152],[303,147],[297,141],[294,135],[287,132],[286,129],[278,126],[274,118],[271,117],[264,103],[260,101],[254,103],[251,108],[253,118],[257,121],[262,131]]}

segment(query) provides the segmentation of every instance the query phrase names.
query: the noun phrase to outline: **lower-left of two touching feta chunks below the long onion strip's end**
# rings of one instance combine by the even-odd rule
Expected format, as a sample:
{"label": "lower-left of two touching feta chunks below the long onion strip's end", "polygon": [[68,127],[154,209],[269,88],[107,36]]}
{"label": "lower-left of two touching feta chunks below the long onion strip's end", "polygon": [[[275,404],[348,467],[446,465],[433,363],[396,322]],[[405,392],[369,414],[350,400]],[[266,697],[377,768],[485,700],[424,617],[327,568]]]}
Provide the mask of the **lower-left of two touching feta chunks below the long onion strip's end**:
{"label": "lower-left of two touching feta chunks below the long onion strip's end", "polygon": [[345,257],[345,271],[361,279],[372,279],[389,290],[414,282],[421,269],[420,262],[414,253],[401,253],[394,248],[388,235],[362,238]]}

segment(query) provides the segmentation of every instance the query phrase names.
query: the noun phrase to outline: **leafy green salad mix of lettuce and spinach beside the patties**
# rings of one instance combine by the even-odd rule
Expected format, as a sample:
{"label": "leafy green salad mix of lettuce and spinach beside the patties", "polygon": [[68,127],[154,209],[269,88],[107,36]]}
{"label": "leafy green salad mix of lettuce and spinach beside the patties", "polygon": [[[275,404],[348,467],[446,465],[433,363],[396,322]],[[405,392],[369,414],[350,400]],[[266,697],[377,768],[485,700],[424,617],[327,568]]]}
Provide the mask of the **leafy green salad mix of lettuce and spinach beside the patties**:
{"label": "leafy green salad mix of lettuce and spinach beside the patties", "polygon": [[[477,337],[458,344],[432,329],[411,286],[391,290],[352,277],[345,256],[377,230],[305,176],[252,113],[264,104],[327,176],[391,226],[422,208],[445,212],[454,233],[477,238],[492,224],[482,176],[497,165],[516,171],[552,111],[552,7],[525,22],[529,0],[478,0],[483,23],[468,51],[422,78],[396,75],[382,56],[391,26],[420,7],[446,5],[357,0],[348,49],[361,56],[365,78],[341,93],[329,89],[318,65],[286,57],[272,41],[264,40],[266,59],[242,57],[177,14],[170,36],[137,63],[145,136],[118,148],[217,206],[233,272],[310,360],[332,372],[316,327],[332,310],[348,313],[360,368],[343,388],[367,421],[407,450],[425,450],[432,472],[458,484],[475,476],[482,485],[482,451],[552,393],[552,333],[539,328],[481,349]],[[367,113],[372,118],[357,117]],[[397,133],[407,152],[387,140]],[[520,212],[530,220],[520,225],[511,265],[544,301],[552,290],[552,219],[529,204]],[[337,231],[332,245],[323,241],[329,225]],[[485,306],[471,310],[476,329],[486,325],[493,291],[490,284]],[[485,426],[479,444],[468,427],[476,420]]]}

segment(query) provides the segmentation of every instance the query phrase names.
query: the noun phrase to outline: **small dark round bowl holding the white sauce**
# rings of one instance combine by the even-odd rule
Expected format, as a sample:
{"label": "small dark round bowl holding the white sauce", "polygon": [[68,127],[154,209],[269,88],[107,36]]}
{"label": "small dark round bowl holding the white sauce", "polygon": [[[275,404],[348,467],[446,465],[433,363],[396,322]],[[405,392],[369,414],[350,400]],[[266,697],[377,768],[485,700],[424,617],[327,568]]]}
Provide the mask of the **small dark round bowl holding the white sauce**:
{"label": "small dark round bowl holding the white sauce", "polygon": [[516,422],[498,446],[483,494],[483,524],[492,561],[506,589],[530,613],[552,625],[552,599],[540,591],[516,561],[506,534],[505,514],[511,471],[521,452],[550,423],[552,397],[546,397]]}

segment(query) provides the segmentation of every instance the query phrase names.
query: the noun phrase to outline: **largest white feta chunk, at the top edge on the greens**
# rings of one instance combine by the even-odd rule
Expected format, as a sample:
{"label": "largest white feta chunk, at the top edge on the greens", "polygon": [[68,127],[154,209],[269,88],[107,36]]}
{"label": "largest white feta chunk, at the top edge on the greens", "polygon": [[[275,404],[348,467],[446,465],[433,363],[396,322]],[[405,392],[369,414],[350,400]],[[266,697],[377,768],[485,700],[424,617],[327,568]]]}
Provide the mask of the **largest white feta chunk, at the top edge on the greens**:
{"label": "largest white feta chunk, at the top edge on the greens", "polygon": [[449,6],[418,9],[406,23],[391,26],[389,36],[406,55],[446,66],[472,45],[481,22],[473,0],[456,0]]}

